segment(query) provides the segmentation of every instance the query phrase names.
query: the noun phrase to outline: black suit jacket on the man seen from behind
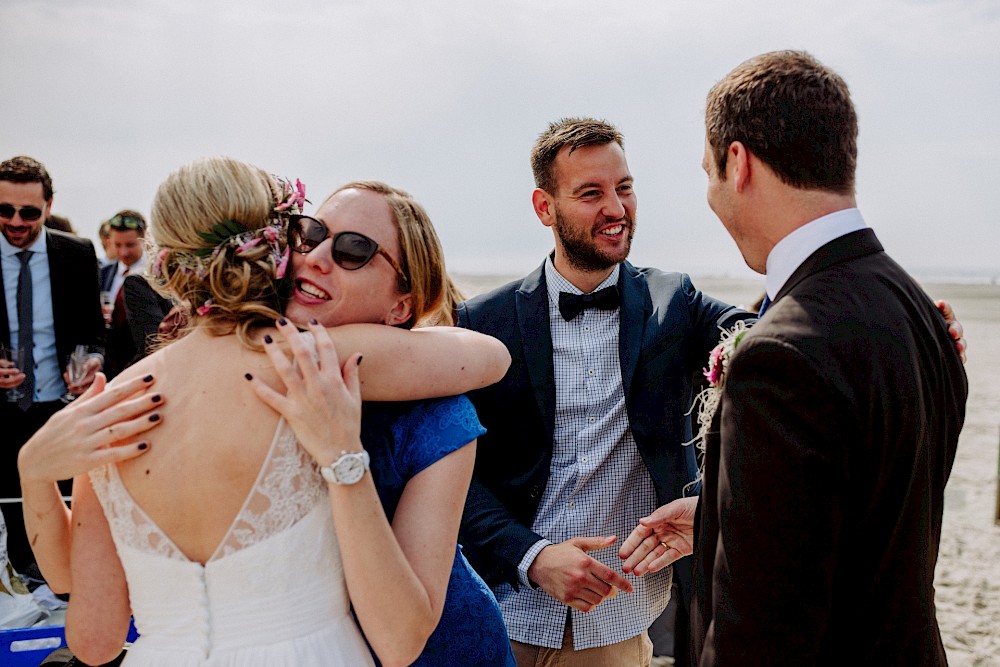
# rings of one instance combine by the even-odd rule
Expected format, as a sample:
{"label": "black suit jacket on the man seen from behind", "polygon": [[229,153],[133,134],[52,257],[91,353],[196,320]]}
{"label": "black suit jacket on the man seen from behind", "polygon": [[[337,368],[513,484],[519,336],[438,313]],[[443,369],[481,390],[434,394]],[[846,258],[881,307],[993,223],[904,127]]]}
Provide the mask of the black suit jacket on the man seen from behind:
{"label": "black suit jacket on the man seen from behind", "polygon": [[724,386],[700,664],[946,664],[934,566],[967,383],[931,300],[870,229],[842,236],[788,280]]}

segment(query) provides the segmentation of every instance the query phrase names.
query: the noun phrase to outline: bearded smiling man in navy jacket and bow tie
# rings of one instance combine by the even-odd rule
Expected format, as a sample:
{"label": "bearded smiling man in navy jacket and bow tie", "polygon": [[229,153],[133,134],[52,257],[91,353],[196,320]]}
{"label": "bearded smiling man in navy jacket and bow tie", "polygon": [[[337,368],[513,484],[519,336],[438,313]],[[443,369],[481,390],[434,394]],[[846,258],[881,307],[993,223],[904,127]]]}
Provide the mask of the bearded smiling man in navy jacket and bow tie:
{"label": "bearded smiling man in navy jacket and bow tie", "polygon": [[613,126],[553,123],[532,167],[554,252],[458,311],[512,357],[500,383],[470,395],[488,432],[460,541],[497,593],[519,665],[557,652],[566,665],[648,664],[670,570],[625,577],[610,547],[692,481],[693,378],[719,327],[749,314],[686,275],[625,261],[636,201]]}

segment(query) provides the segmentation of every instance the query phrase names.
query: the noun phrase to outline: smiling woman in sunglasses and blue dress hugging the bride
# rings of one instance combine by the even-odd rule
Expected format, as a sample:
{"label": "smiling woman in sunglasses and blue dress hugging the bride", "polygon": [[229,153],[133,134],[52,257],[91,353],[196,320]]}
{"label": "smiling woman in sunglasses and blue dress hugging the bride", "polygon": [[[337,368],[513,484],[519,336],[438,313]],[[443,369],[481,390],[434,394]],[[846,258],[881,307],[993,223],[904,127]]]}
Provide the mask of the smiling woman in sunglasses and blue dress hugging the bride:
{"label": "smiling woman in sunglasses and blue dress hugging the bride", "polygon": [[[430,218],[406,192],[375,181],[345,185],[323,202],[315,217],[292,216],[288,243],[294,291],[285,312],[293,321],[318,320],[328,326],[372,322],[407,329],[453,322],[460,295],[448,278]],[[269,349],[289,392],[282,397],[260,387],[259,393],[303,443],[315,437],[315,447],[332,453],[332,446],[323,442],[325,396],[310,385],[317,369],[305,349],[299,347],[296,371]],[[344,552],[355,614],[383,662],[415,647],[420,652],[415,665],[514,665],[496,599],[456,544],[475,441],[482,433],[464,396],[365,404],[354,451],[364,447],[371,476],[338,491],[345,497],[381,498],[420,593],[400,602],[400,609],[413,605],[420,610],[407,615],[412,623],[404,623],[398,610],[384,604],[398,600],[398,592],[371,565],[374,540],[368,549]],[[350,502],[334,503],[338,526],[359,518],[349,514],[350,507]],[[371,539],[361,524],[354,534],[355,539]]]}

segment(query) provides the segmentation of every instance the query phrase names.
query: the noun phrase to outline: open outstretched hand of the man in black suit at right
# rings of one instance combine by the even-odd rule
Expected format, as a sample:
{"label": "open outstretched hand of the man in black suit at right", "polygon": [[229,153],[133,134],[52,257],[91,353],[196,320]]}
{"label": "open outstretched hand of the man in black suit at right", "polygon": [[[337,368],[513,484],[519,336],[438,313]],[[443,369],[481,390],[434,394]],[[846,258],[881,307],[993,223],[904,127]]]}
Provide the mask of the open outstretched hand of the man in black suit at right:
{"label": "open outstretched hand of the man in black suit at right", "polygon": [[628,536],[618,557],[623,572],[642,576],[658,572],[694,551],[694,512],[698,498],[678,498],[658,508]]}

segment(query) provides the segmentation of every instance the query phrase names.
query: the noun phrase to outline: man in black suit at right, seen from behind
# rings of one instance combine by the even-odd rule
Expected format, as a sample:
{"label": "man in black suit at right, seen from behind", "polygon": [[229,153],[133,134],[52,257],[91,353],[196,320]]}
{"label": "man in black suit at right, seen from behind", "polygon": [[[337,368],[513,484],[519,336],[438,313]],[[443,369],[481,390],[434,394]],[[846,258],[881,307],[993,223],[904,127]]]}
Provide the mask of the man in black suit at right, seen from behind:
{"label": "man in black suit at right, seen from behind", "polygon": [[856,208],[847,85],[800,52],[709,93],[708,201],[771,305],[723,379],[695,552],[701,665],[944,665],[934,567],[967,382]]}

